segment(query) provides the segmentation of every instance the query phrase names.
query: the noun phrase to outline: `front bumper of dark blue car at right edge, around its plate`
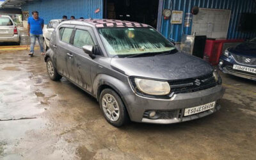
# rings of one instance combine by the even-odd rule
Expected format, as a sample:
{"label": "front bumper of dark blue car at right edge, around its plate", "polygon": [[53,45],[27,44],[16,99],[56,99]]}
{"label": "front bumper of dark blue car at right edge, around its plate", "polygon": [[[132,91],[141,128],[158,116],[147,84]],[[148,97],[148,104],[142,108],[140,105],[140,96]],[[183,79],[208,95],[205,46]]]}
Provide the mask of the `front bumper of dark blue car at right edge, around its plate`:
{"label": "front bumper of dark blue car at right edge, around its plate", "polygon": [[[242,65],[245,67],[252,67],[252,66],[247,66],[244,64],[237,63],[234,60],[234,58],[232,58],[232,56],[230,56],[230,57],[221,56],[220,61],[222,62],[222,65],[220,65],[220,63],[219,63],[219,68],[220,68],[221,72],[223,72],[224,74],[231,74],[233,76],[243,77],[246,79],[251,79],[253,81],[256,81],[256,74],[253,74],[250,72],[244,72],[242,70],[233,69],[233,65]],[[255,67],[253,67],[253,68],[255,68]]]}

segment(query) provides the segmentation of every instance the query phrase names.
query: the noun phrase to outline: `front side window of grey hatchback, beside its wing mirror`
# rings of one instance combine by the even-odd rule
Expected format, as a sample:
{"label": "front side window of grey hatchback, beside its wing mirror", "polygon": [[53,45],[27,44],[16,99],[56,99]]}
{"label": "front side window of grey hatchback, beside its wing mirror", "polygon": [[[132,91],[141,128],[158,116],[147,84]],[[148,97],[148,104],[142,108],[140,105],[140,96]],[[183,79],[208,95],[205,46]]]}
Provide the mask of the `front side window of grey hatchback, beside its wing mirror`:
{"label": "front side window of grey hatchback, beside its wing mirror", "polygon": [[80,48],[84,45],[93,45],[92,36],[90,36],[88,31],[77,29],[74,37],[74,45]]}

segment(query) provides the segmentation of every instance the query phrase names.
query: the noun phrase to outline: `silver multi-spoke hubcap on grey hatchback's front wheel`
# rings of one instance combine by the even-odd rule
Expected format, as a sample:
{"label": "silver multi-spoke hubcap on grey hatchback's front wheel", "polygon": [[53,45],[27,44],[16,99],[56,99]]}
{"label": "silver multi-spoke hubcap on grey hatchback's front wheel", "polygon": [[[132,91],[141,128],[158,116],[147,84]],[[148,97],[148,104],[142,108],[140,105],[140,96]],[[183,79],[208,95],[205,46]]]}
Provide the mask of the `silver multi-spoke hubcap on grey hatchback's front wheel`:
{"label": "silver multi-spoke hubcap on grey hatchback's front wheel", "polygon": [[102,98],[103,112],[107,118],[113,122],[117,121],[120,116],[118,103],[113,95],[107,93]]}

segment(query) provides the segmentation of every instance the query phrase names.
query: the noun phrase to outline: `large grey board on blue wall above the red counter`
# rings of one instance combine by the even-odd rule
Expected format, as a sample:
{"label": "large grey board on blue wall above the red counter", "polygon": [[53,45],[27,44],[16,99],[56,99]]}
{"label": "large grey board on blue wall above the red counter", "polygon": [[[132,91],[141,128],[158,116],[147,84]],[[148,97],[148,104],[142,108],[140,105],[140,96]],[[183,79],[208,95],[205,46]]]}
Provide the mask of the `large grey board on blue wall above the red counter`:
{"label": "large grey board on blue wall above the red counter", "polygon": [[[227,38],[231,10],[199,8],[193,15],[192,32],[196,35],[206,35],[207,38]],[[193,34],[192,33],[192,34]]]}

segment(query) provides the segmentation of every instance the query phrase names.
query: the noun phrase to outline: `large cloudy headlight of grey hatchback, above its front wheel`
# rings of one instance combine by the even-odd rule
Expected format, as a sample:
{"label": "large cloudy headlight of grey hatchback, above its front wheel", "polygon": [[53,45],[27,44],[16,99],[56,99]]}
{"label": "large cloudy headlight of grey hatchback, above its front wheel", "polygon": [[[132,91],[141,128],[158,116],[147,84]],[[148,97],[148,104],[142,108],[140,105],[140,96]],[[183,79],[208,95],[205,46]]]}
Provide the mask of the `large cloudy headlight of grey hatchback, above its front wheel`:
{"label": "large cloudy headlight of grey hatchback, above its front wheel", "polygon": [[170,85],[164,81],[140,78],[134,78],[134,81],[138,90],[148,95],[167,95],[171,91]]}

